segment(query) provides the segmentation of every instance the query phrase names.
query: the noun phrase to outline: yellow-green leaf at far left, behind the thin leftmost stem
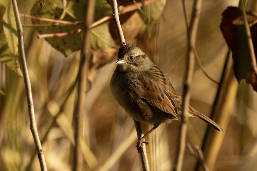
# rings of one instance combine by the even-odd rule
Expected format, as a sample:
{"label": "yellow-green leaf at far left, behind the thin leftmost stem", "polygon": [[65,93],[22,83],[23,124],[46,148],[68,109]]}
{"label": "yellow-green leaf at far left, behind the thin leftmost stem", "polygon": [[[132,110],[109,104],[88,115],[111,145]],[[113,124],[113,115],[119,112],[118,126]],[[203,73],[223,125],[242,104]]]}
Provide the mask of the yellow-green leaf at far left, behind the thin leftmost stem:
{"label": "yellow-green leaf at far left, behind the thin leftmost stem", "polygon": [[7,8],[0,4],[0,62],[4,62],[7,67],[22,77],[23,74],[18,60],[17,31],[16,26],[13,25],[15,24],[13,20],[11,1],[9,1]]}

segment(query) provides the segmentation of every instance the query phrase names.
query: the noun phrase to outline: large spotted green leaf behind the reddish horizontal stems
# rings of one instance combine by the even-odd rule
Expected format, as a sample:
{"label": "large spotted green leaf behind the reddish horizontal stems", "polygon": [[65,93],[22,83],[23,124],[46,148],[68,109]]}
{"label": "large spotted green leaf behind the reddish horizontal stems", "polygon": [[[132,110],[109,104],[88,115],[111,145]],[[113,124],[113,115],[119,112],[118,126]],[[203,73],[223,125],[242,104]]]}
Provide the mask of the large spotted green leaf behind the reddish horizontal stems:
{"label": "large spotted green leaf behind the reddish horizontal stems", "polygon": [[[34,3],[31,9],[31,15],[37,16],[37,17],[51,18],[56,20],[60,18],[63,9],[58,7],[60,6],[59,1],[58,1],[59,5],[57,5],[55,1],[48,0],[43,8],[39,7],[40,2],[41,1],[38,0]],[[83,12],[84,7],[85,7],[85,1],[76,1],[76,0],[69,1],[66,6],[67,12],[63,20],[71,21],[71,22],[84,20],[84,12]],[[32,20],[32,23],[33,24],[54,24],[52,22],[45,22],[40,20]],[[38,30],[41,34],[47,34],[47,33],[64,33],[64,32],[76,31],[80,28],[82,28],[82,25],[78,25],[78,26],[56,25],[56,26],[38,27]],[[63,53],[65,56],[68,56],[72,52],[81,49],[82,37],[83,37],[82,33],[76,33],[76,34],[71,34],[63,37],[46,38],[45,40],[47,40],[53,48]]]}

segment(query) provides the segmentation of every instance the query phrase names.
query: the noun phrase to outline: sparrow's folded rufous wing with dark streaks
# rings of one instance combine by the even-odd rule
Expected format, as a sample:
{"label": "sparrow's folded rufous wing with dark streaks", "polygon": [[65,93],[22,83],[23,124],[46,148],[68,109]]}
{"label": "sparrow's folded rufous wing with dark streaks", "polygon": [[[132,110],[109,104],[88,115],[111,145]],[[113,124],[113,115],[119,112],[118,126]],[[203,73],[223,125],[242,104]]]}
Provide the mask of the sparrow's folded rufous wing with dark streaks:
{"label": "sparrow's folded rufous wing with dark streaks", "polygon": [[144,93],[141,97],[153,107],[178,119],[177,107],[167,91],[169,88],[167,86],[171,86],[171,83],[158,67],[155,66],[152,69],[139,75],[139,80],[144,85]]}

